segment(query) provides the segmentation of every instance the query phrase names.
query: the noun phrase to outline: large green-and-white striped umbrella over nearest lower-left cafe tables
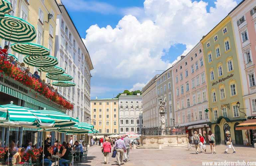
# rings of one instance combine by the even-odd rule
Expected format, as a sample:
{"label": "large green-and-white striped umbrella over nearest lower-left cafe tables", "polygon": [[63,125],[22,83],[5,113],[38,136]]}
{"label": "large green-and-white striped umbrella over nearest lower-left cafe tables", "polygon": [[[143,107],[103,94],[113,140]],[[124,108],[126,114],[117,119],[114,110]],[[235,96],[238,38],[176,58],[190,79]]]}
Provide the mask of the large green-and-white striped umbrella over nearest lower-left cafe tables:
{"label": "large green-and-white striped umbrella over nearest lower-left cafe tables", "polygon": [[[0,108],[7,110],[6,119],[8,122],[3,122],[6,125],[20,125],[29,127],[53,127],[55,121],[49,117],[34,115],[32,109],[11,104],[0,105]],[[4,112],[0,112],[0,117],[5,116]]]}

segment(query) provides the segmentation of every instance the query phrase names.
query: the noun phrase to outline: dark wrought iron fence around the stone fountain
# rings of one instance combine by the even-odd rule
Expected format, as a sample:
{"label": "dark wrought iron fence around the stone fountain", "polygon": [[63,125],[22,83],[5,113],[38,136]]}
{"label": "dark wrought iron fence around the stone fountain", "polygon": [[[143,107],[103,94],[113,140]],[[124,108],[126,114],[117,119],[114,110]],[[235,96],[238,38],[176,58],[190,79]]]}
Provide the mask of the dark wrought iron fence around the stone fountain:
{"label": "dark wrought iron fence around the stone fountain", "polygon": [[[161,127],[142,128],[143,135],[161,135]],[[166,127],[165,135],[185,135],[186,128],[184,126]]]}

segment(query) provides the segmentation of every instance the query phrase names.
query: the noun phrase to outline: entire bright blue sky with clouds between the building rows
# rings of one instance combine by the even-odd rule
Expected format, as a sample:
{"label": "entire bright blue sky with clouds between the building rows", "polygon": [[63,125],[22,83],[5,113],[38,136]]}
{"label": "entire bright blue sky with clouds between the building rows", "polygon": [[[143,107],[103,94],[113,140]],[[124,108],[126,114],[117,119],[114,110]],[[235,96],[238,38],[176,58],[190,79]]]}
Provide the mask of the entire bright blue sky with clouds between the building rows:
{"label": "entire bright blue sky with clouds between the building rows", "polygon": [[[199,32],[192,29],[186,32],[184,37],[177,35],[179,29],[186,26],[184,22],[188,21],[180,16],[182,11],[177,10],[174,13],[172,11],[175,9],[172,9],[172,5],[168,8],[161,0],[156,3],[153,1],[147,3],[144,8],[144,0],[77,0],[76,4],[69,0],[62,0],[80,36],[84,39],[94,65],[91,79],[92,99],[95,96],[112,98],[125,89],[141,89],[155,74],[159,73],[155,70],[165,70],[170,67],[177,57],[179,59],[180,55],[186,54],[193,45],[199,42],[204,33],[223,19],[220,17],[215,19],[216,15],[223,13],[225,16],[240,0],[236,2],[233,2],[234,0],[219,0],[218,2],[192,0],[191,4],[189,0],[177,1],[175,8],[181,8],[184,11],[191,10],[195,17],[205,15],[205,17],[214,18],[210,19],[213,20],[210,25],[200,25]],[[196,10],[197,8],[201,8],[201,11]],[[132,16],[126,17],[129,14]],[[169,20],[171,16],[174,18],[173,21]],[[176,17],[181,23],[173,24]],[[206,24],[208,21],[201,17],[194,19],[193,22],[200,20],[200,23]],[[191,25],[188,24],[188,28]],[[107,26],[111,27],[106,28]],[[140,28],[142,31],[138,30]],[[144,31],[145,36],[143,36]],[[186,39],[187,36],[195,37]],[[131,38],[131,44],[128,43],[131,42],[129,38]],[[145,38],[148,39],[145,40]],[[143,64],[141,59],[145,59],[147,64]]]}

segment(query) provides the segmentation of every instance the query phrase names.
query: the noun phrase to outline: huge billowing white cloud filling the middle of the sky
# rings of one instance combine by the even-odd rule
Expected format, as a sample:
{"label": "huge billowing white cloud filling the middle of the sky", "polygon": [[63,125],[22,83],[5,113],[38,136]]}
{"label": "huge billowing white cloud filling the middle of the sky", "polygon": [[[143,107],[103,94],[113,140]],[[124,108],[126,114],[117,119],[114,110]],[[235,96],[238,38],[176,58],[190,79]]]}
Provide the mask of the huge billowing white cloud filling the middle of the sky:
{"label": "huge billowing white cloud filling the middle of the sky", "polygon": [[207,12],[207,3],[202,0],[145,0],[143,11],[124,11],[139,16],[126,15],[116,27],[92,25],[83,41],[95,68],[94,75],[146,82],[156,69],[165,70],[173,64],[161,59],[164,50],[182,43],[186,44],[185,55],[236,4],[234,0],[217,0],[216,7]]}

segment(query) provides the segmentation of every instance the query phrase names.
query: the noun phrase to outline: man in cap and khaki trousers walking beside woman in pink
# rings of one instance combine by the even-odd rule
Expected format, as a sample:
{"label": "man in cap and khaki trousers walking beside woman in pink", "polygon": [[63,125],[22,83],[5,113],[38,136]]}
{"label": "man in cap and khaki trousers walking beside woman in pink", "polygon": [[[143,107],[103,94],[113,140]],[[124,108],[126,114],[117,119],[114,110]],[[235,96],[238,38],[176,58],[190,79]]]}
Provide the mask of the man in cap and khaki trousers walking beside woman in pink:
{"label": "man in cap and khaki trousers walking beside woman in pink", "polygon": [[117,137],[117,141],[115,142],[114,149],[116,150],[118,165],[124,164],[123,156],[124,156],[124,153],[126,152],[126,146],[124,144],[124,141],[121,139],[121,135]]}

